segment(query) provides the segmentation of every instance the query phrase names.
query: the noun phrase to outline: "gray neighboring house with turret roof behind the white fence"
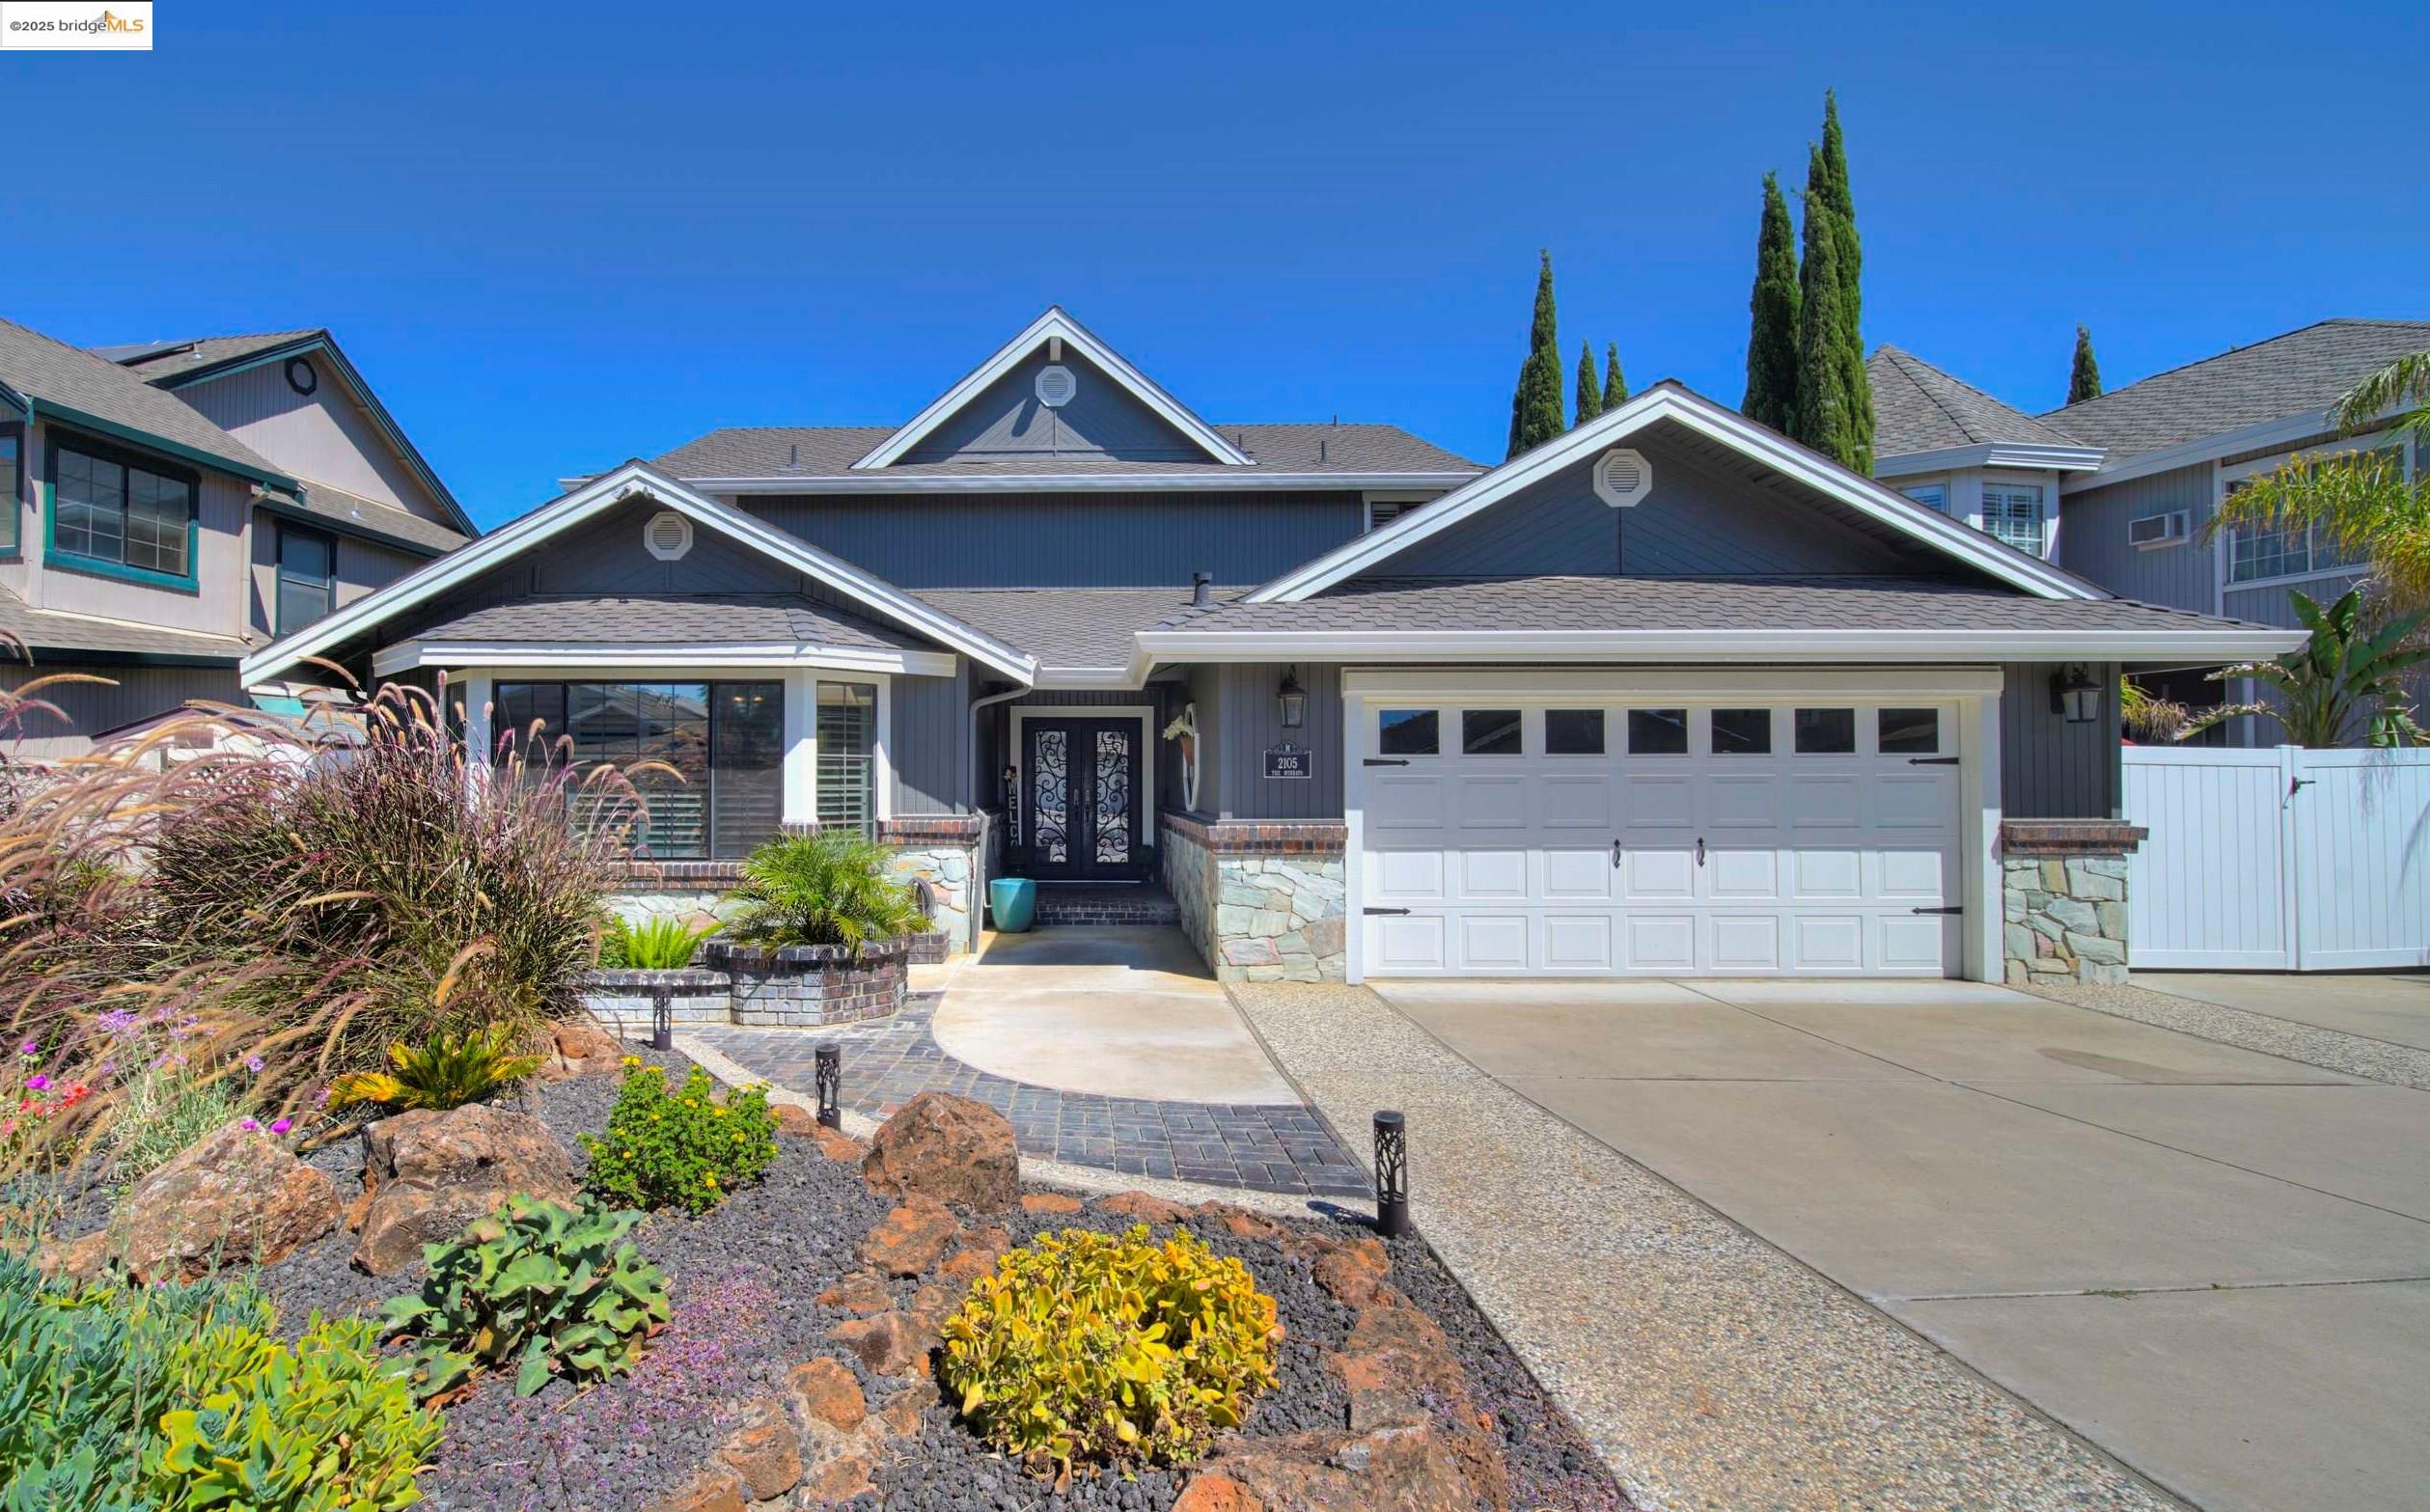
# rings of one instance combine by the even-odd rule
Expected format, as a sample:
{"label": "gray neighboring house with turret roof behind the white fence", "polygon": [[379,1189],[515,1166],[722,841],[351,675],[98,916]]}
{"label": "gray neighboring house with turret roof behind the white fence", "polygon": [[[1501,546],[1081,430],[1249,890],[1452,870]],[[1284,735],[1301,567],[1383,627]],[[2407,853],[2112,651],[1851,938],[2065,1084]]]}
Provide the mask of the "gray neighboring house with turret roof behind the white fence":
{"label": "gray neighboring house with turret roof behind the white fence", "polygon": [[[2430,350],[2430,321],[2321,321],[2027,416],[1883,345],[1866,365],[1874,474],[2112,593],[2294,625],[2287,591],[2330,600],[2362,576],[2355,564],[2304,532],[2204,540],[2204,525],[2228,491],[2304,450],[2411,447],[2398,459],[2413,476],[2430,474],[2423,442],[2340,440],[2328,423],[2364,374],[2420,350]],[[2221,698],[2199,671],[2148,683],[2194,703]]]}

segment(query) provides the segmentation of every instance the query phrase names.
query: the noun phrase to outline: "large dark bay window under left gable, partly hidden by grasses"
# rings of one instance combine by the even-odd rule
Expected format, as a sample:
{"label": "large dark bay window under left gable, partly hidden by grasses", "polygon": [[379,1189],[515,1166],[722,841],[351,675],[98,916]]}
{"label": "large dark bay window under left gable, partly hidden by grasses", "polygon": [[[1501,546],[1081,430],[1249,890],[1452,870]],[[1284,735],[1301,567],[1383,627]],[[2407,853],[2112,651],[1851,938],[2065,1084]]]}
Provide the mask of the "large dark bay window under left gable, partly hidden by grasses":
{"label": "large dark bay window under left gable, partly hidden by grasses", "polygon": [[782,683],[498,683],[496,727],[539,761],[615,766],[615,785],[573,788],[573,817],[632,824],[659,861],[746,856],[785,817]]}

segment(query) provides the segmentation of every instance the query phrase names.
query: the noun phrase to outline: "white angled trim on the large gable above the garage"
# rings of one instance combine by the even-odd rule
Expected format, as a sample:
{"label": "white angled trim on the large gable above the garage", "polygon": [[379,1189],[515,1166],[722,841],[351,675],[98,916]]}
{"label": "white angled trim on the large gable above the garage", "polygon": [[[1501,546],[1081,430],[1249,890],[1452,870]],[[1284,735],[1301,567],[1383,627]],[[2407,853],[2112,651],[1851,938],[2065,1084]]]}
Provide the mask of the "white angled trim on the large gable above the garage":
{"label": "white angled trim on the large gable above the garage", "polygon": [[1358,576],[1361,571],[1373,571],[1405,547],[1492,508],[1528,484],[1538,484],[1565,467],[1601,455],[1604,447],[1635,435],[1655,421],[1677,421],[1699,435],[1754,457],[1784,476],[1798,479],[1801,484],[1808,484],[1840,503],[1881,520],[1883,525],[1939,547],[1959,562],[1966,562],[1968,566],[1976,566],[2039,598],[2107,598],[2100,588],[2058,571],[2046,562],[2036,562],[2034,557],[2027,557],[2024,552],[2017,552],[2014,547],[2007,547],[1971,525],[1927,510],[1912,498],[1886,489],[1874,479],[1859,476],[1837,462],[1830,462],[1798,442],[1757,425],[1737,411],[1723,408],[1677,384],[1657,384],[1621,408],[1606,411],[1577,430],[1504,462],[1502,467],[1470,481],[1465,489],[1453,489],[1426,508],[1407,513],[1383,530],[1361,535],[1358,540],[1334,547],[1324,557],[1278,576],[1256,593],[1249,593],[1249,603],[1295,603],[1322,593],[1344,579]]}

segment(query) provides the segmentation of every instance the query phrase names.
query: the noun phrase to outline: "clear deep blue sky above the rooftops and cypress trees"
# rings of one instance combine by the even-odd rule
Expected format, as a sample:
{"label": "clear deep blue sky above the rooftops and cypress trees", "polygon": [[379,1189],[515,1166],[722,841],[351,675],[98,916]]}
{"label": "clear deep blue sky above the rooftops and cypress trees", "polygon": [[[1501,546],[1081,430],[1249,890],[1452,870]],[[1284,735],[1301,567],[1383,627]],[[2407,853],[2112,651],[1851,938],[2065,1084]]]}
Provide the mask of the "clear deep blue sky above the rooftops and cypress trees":
{"label": "clear deep blue sky above the rooftops and cypress trees", "polygon": [[2420,5],[2236,0],[163,5],[0,58],[0,314],[330,326],[484,525],[902,421],[1050,301],[1210,421],[1497,462],[1538,246],[1570,362],[1737,401],[1757,182],[1837,85],[1866,340],[2041,408],[2078,321],[2117,387],[2430,316],[2425,58]]}

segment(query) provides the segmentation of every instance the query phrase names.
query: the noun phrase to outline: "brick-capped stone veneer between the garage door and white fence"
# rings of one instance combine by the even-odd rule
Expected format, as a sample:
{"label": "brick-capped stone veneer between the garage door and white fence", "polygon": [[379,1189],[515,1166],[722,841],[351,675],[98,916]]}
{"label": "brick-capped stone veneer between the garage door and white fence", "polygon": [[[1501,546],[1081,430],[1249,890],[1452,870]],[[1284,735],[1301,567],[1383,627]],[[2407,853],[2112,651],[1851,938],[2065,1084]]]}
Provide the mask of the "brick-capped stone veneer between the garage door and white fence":
{"label": "brick-capped stone veneer between the garage door and white fence", "polygon": [[2126,856],[2146,834],[2114,819],[2010,819],[2000,826],[2010,987],[2126,982]]}

